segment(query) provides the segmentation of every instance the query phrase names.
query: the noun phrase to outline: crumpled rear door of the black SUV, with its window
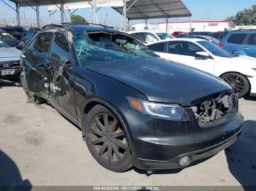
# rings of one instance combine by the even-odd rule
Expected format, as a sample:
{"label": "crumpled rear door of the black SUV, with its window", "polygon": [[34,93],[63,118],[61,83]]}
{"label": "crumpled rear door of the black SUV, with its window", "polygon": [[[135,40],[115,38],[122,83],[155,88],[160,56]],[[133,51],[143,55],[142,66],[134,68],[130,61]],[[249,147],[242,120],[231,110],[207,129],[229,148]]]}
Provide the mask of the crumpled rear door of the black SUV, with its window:
{"label": "crumpled rear door of the black SUV, with its window", "polygon": [[45,84],[50,79],[46,67],[46,58],[50,48],[53,34],[49,32],[40,33],[21,55],[23,59],[24,73],[26,75],[27,87],[31,93],[48,99],[48,87]]}

